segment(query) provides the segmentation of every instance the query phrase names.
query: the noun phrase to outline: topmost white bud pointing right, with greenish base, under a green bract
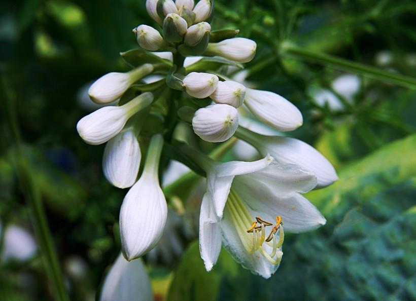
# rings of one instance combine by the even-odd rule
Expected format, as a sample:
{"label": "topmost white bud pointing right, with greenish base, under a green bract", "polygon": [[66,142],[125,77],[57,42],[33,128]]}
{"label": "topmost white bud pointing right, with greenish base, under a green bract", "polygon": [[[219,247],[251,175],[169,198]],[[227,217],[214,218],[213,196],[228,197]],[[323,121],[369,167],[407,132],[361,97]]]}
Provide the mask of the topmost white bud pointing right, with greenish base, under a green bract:
{"label": "topmost white bud pointing right, with greenish base, under a green bract", "polygon": [[234,37],[219,43],[210,43],[205,53],[208,55],[219,55],[227,59],[247,63],[256,55],[256,42],[244,37]]}

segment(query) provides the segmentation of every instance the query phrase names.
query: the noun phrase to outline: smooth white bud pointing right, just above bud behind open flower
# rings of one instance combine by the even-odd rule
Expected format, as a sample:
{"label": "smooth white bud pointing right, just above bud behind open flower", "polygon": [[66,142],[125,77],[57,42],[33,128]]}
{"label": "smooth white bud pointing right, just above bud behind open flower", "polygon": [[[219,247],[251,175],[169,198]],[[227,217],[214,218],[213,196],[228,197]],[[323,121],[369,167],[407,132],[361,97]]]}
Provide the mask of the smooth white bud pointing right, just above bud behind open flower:
{"label": "smooth white bud pointing right, just above bud behind open flower", "polygon": [[282,96],[247,89],[244,103],[255,117],[280,131],[292,131],[303,123],[299,109]]}

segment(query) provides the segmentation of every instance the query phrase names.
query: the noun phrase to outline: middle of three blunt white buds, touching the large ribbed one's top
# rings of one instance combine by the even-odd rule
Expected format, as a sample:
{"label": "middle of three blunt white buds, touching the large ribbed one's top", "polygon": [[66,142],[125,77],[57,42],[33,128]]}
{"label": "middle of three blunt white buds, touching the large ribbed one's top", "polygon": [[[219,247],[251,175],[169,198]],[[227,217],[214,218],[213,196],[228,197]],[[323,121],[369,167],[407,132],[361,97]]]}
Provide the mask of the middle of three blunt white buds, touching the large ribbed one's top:
{"label": "middle of three blunt white buds, touching the large ribbed one's top", "polygon": [[216,103],[225,103],[233,107],[239,107],[244,102],[245,95],[246,87],[237,82],[225,81],[218,83],[217,89],[210,97]]}

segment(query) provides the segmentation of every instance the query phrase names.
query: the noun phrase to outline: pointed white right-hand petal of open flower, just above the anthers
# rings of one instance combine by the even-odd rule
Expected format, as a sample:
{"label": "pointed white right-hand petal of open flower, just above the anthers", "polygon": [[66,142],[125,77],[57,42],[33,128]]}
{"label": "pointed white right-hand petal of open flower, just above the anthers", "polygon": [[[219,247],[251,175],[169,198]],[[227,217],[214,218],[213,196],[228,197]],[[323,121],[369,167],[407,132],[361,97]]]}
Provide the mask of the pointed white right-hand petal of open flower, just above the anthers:
{"label": "pointed white right-hand petal of open flower, just above the anthers", "polygon": [[245,176],[234,179],[233,189],[252,212],[264,220],[274,221],[280,215],[287,232],[314,230],[326,222],[319,210],[298,193],[282,196],[278,188],[260,186],[259,181],[245,179]]}

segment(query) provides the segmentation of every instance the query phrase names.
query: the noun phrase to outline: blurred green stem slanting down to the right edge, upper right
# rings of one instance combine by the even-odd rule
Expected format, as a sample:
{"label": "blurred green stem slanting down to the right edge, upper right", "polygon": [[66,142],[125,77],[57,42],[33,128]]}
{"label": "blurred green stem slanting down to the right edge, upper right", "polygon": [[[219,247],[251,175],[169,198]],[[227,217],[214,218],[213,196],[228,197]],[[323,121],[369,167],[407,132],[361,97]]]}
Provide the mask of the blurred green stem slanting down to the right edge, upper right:
{"label": "blurred green stem slanting down to the right edge, upper right", "polygon": [[289,43],[283,44],[282,55],[294,56],[306,61],[316,62],[322,65],[329,65],[340,70],[351,71],[375,80],[389,82],[406,88],[416,88],[416,79],[401,74],[385,71],[372,66],[352,62],[325,53],[318,53],[300,48]]}

